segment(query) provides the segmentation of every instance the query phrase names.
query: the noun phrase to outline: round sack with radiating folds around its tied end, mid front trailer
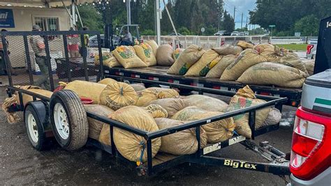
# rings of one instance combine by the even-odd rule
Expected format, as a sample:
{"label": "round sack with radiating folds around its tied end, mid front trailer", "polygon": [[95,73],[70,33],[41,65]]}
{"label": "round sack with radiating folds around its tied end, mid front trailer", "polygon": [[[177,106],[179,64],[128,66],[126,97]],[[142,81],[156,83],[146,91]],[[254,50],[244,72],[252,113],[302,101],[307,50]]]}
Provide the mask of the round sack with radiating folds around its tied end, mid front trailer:
{"label": "round sack with radiating folds around its tied end, mid front trailer", "polygon": [[116,82],[109,84],[100,94],[100,102],[113,110],[134,105],[138,100],[135,90],[128,84]]}

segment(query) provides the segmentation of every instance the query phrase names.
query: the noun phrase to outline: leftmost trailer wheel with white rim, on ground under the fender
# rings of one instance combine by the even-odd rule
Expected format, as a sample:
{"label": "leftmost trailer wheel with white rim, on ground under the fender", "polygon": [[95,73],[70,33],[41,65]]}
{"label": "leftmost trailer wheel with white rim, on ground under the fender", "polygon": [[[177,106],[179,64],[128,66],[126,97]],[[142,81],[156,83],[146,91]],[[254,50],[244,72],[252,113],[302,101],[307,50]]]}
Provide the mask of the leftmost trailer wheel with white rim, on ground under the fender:
{"label": "leftmost trailer wheel with white rim, on ground under the fender", "polygon": [[43,123],[41,123],[37,111],[31,105],[27,105],[24,109],[24,123],[31,146],[39,151],[45,150],[47,139]]}

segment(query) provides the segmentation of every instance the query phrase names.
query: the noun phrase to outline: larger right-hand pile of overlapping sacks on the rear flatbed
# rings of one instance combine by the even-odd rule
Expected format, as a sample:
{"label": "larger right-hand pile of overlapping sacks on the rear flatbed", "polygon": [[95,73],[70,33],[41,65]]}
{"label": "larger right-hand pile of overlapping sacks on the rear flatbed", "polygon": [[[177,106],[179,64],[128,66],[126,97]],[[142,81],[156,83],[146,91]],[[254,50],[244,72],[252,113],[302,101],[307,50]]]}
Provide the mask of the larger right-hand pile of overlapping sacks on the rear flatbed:
{"label": "larger right-hand pile of overlapping sacks on the rear flatbed", "polygon": [[191,45],[179,55],[168,74],[301,88],[312,71],[313,62],[304,63],[285,49],[240,41],[235,46],[223,45],[207,50]]}

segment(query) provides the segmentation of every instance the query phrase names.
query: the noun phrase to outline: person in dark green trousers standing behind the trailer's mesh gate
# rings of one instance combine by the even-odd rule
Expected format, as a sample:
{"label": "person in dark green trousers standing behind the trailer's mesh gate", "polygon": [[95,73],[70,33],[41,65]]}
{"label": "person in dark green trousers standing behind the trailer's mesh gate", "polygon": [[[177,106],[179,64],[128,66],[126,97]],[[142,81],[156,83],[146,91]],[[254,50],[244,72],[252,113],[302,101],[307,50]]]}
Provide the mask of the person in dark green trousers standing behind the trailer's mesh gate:
{"label": "person in dark green trousers standing behind the trailer's mesh gate", "polygon": [[[39,25],[32,26],[32,31],[41,31]],[[46,61],[45,43],[43,37],[41,36],[31,36],[29,39],[32,50],[34,51],[34,56],[36,63],[41,70],[41,77],[35,82],[36,86],[44,86],[46,89],[50,90],[50,73],[48,72],[48,65]]]}

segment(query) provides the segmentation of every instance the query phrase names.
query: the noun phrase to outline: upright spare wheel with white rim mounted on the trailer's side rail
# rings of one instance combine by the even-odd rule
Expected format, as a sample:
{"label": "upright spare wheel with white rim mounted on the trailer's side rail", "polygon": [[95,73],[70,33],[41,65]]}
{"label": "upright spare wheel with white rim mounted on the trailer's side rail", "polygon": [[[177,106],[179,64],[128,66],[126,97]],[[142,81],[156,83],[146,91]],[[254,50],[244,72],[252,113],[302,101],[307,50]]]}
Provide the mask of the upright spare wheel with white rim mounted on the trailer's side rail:
{"label": "upright spare wheel with white rim mounted on the trailer's side rail", "polygon": [[50,123],[55,139],[66,150],[77,150],[86,144],[89,125],[84,106],[70,90],[53,93],[50,100]]}

